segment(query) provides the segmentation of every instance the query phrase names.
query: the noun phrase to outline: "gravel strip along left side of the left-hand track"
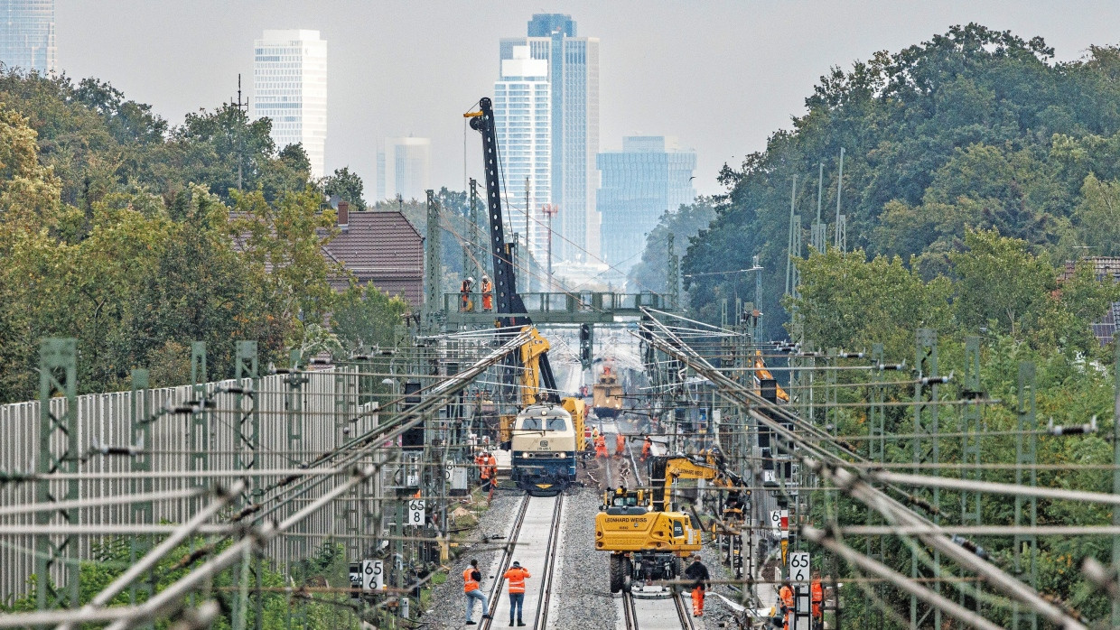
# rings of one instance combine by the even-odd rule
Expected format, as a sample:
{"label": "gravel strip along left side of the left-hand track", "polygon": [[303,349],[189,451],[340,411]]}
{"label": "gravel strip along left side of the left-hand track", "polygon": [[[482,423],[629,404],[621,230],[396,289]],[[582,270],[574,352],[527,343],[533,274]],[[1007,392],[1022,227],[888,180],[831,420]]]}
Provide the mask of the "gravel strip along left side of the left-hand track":
{"label": "gravel strip along left side of the left-hand track", "polygon": [[[436,586],[432,591],[432,605],[424,611],[419,619],[422,628],[477,628],[477,626],[465,626],[463,612],[465,596],[463,594],[463,571],[468,566],[472,558],[478,558],[478,567],[483,571],[483,592],[489,593],[494,584],[494,577],[488,575],[489,566],[502,552],[502,544],[510,534],[513,526],[513,517],[517,511],[517,501],[523,493],[517,490],[497,490],[494,492],[494,502],[489,510],[482,514],[478,519],[478,527],[468,537],[472,540],[479,540],[483,536],[501,536],[491,544],[475,543],[472,547],[459,547],[458,558],[451,561],[451,572],[447,582]],[[482,612],[479,605],[475,604],[475,622],[478,622]],[[501,615],[498,615],[501,619]],[[505,627],[505,624],[501,624]]]}

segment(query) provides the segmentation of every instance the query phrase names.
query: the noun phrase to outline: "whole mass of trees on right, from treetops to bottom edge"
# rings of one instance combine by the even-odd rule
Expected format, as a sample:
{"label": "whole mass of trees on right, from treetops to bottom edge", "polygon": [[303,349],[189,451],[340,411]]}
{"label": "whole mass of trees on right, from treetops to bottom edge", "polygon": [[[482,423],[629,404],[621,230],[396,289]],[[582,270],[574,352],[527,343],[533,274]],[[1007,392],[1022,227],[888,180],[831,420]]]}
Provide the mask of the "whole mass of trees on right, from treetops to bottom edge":
{"label": "whole mass of trees on right, from treetops to bottom edge", "polygon": [[[908,404],[915,387],[905,376],[887,387],[883,458],[895,468],[920,461],[927,474],[1015,483],[1016,453],[1037,439],[1038,485],[1111,491],[1112,348],[1102,347],[1089,325],[1100,321],[1120,290],[1112,279],[1095,278],[1088,263],[1068,272],[1064,267],[1086,254],[1120,254],[1114,158],[1120,48],[1091,47],[1072,63],[1055,63],[1053,56],[1040,38],[969,25],[898,53],[876,54],[849,69],[832,68],[791,130],[774,133],[765,151],[739,167],[724,169],[727,192],[715,200],[716,218],[690,242],[685,281],[692,308],[708,320],[718,319],[722,300],[749,294],[753,280],[717,272],[745,269],[752,255],[759,255],[773,270],[764,276],[762,309],[771,338],[796,330],[816,348],[848,350],[880,342],[888,361],[905,360],[909,369],[917,359],[915,330],[937,333],[941,374],[956,375],[939,391],[940,413],[925,413],[921,423],[915,419]],[[808,244],[820,163],[824,219],[834,220],[841,148],[849,251],[806,252],[796,263],[800,298],[783,299],[793,178],[799,178],[794,211],[802,218],[794,228]],[[783,329],[787,313],[794,326]],[[960,379],[969,336],[981,344],[979,393],[965,391]],[[1098,431],[1037,438],[1020,432],[1027,417],[1018,402],[1025,378],[1020,366],[1027,361],[1037,368],[1038,427],[1096,417]],[[867,374],[841,372],[838,379],[840,405],[816,408],[814,420],[870,457]],[[970,396],[984,402],[979,459],[990,469],[961,467],[959,402]],[[935,431],[946,435],[936,457],[953,462],[949,469],[932,466],[930,434]],[[1029,480],[1029,471],[1025,474],[1021,479]],[[942,490],[939,498],[943,525],[968,523],[960,493]],[[932,491],[917,488],[912,505],[933,518],[933,500]],[[810,519],[818,525],[868,520],[869,510],[842,492],[818,492],[812,502]],[[984,495],[979,509],[983,525],[1016,523],[1012,497]],[[1020,523],[1029,524],[1029,517]],[[1039,499],[1038,523],[1108,525],[1111,510]],[[908,575],[912,547],[898,537],[883,540],[884,561]],[[973,542],[997,566],[1015,572],[1012,537]],[[846,543],[867,548],[859,537]],[[1109,600],[1088,584],[1080,566],[1086,556],[1108,563],[1110,549],[1108,537],[1039,537],[1039,590],[1089,619],[1103,619]],[[928,549],[918,545],[917,551],[920,577],[933,577]],[[851,567],[822,568],[853,575]],[[1025,573],[1019,577],[1029,580]],[[968,584],[946,585],[942,593],[958,600],[958,589],[965,590],[969,608],[977,605]],[[877,604],[875,596],[885,602]],[[902,613],[888,614],[887,627],[908,626],[908,596],[897,590],[865,590],[856,583],[844,589],[843,599],[849,623],[874,623],[865,614],[878,605]],[[1010,626],[1006,600],[989,598],[979,605],[984,617]],[[920,615],[926,610],[923,604]],[[932,627],[932,618],[924,619],[923,627]]]}

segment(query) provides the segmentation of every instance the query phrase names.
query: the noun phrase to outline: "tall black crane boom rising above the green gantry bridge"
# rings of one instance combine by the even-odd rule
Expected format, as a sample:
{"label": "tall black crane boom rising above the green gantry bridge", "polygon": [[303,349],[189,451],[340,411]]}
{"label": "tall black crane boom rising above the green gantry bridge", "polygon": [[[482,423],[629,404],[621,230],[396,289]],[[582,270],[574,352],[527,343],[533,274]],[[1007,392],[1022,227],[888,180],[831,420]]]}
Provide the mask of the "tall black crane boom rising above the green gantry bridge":
{"label": "tall black crane boom rising above the green gantry bridge", "polygon": [[[513,266],[513,253],[510,244],[505,242],[502,187],[498,177],[497,134],[494,130],[494,106],[489,98],[483,96],[478,100],[478,110],[465,115],[470,119],[470,129],[483,137],[483,167],[486,170],[486,215],[489,219],[489,251],[494,262],[494,305],[497,314],[508,316],[498,317],[495,323],[501,328],[508,327],[520,330],[525,326],[532,326],[533,321],[525,311],[525,303],[521,299],[521,294],[517,293],[517,274]],[[529,213],[529,208],[525,208],[525,213]],[[529,242],[528,234],[525,242]],[[552,374],[547,351],[540,354],[539,361],[542,397],[558,399],[556,377]]]}

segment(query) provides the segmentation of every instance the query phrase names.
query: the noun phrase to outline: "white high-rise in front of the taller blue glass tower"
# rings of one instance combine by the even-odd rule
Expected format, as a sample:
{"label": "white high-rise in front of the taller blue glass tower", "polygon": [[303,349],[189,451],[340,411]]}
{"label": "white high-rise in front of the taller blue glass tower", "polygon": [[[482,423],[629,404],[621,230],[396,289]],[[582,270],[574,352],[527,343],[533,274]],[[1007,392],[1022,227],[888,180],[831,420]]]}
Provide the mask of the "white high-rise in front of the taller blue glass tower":
{"label": "white high-rise in front of the taller blue glass tower", "polygon": [[[502,59],[502,78],[494,83],[494,122],[510,229],[525,243],[529,178],[529,250],[543,263],[549,234],[543,210],[552,203],[552,96],[549,63],[531,58],[528,46],[514,46],[511,58]],[[560,231],[559,225],[554,227]],[[553,247],[558,245],[559,238]]]}

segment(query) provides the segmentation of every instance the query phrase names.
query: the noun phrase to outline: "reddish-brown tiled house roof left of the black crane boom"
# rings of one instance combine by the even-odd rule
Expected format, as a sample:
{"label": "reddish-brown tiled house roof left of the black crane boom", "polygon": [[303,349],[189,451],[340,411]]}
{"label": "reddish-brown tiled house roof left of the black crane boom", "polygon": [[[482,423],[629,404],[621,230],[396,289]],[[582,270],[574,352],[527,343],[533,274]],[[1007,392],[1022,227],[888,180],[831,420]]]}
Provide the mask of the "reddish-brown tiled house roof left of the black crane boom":
{"label": "reddish-brown tiled house roof left of the black crane boom", "polygon": [[401,295],[413,310],[423,302],[423,238],[399,211],[351,211],[346,232],[326,245],[358,282]]}

